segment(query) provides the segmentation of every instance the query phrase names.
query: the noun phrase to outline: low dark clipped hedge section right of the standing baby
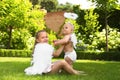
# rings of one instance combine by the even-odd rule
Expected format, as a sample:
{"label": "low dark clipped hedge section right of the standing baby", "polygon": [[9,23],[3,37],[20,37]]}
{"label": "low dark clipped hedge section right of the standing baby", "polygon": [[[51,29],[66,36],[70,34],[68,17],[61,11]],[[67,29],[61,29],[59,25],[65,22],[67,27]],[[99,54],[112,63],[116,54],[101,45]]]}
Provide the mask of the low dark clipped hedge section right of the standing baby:
{"label": "low dark clipped hedge section right of the standing baby", "polygon": [[78,59],[90,59],[90,60],[114,60],[120,61],[120,52],[88,52],[88,51],[76,51]]}

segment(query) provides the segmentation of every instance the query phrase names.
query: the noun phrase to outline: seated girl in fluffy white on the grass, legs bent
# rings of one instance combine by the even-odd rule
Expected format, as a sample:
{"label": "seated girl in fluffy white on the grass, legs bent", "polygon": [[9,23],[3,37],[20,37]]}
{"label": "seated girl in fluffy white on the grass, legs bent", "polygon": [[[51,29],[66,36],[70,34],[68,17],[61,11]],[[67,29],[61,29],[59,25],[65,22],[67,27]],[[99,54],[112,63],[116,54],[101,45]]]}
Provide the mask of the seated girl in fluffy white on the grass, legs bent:
{"label": "seated girl in fluffy white on the grass, legs bent", "polygon": [[42,75],[43,73],[53,74],[63,69],[70,74],[78,75],[79,71],[74,70],[65,60],[59,60],[52,63],[52,57],[59,56],[63,48],[64,46],[62,45],[58,50],[54,51],[53,47],[48,44],[46,31],[41,30],[37,32],[33,51],[33,64],[24,70],[25,73],[27,75]]}

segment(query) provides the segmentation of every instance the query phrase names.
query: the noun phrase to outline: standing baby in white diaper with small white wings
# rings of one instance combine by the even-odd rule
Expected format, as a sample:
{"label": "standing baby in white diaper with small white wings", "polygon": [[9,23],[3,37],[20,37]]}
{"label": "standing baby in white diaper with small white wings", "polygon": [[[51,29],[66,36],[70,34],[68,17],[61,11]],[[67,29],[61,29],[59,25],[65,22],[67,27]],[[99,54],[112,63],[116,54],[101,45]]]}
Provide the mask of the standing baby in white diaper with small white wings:
{"label": "standing baby in white diaper with small white wings", "polygon": [[77,59],[77,55],[74,50],[74,48],[76,48],[77,39],[73,31],[74,31],[74,26],[71,23],[64,24],[62,29],[62,34],[64,35],[63,39],[54,41],[54,45],[59,45],[59,44],[64,45],[64,52],[65,52],[64,59],[70,65],[72,65],[72,63]]}

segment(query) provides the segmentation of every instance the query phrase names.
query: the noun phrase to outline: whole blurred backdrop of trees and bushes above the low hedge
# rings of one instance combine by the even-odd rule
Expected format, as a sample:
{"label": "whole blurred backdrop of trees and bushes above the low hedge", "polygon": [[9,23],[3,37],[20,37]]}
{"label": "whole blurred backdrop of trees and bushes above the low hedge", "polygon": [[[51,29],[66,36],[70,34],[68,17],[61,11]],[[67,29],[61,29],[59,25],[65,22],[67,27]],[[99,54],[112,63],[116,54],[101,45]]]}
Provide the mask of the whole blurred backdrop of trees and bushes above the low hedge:
{"label": "whole blurred backdrop of trees and bushes above the low hedge", "polygon": [[[75,26],[78,50],[120,51],[119,0],[89,1],[96,7],[81,9],[80,5],[59,4],[57,0],[0,0],[0,48],[32,49],[35,33],[47,29],[45,9],[78,14],[76,20],[66,19]],[[50,39],[56,39],[54,32],[48,32]]]}

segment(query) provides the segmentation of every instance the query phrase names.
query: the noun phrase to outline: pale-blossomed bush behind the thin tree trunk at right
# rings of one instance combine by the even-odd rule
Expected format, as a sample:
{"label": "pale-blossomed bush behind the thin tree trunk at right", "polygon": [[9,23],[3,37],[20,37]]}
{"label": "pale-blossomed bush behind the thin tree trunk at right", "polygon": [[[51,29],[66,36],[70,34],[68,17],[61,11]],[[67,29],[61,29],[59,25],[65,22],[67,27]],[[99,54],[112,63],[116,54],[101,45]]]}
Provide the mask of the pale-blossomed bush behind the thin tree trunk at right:
{"label": "pale-blossomed bush behind the thin tree trunk at right", "polygon": [[[110,51],[120,51],[120,32],[117,29],[109,28],[108,47]],[[105,51],[105,29],[102,32],[96,33],[93,37],[93,42],[89,46],[89,50]]]}

